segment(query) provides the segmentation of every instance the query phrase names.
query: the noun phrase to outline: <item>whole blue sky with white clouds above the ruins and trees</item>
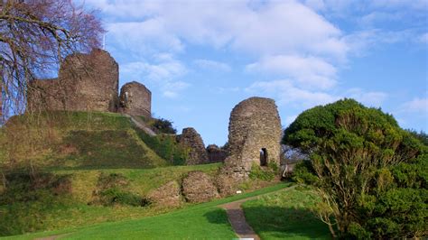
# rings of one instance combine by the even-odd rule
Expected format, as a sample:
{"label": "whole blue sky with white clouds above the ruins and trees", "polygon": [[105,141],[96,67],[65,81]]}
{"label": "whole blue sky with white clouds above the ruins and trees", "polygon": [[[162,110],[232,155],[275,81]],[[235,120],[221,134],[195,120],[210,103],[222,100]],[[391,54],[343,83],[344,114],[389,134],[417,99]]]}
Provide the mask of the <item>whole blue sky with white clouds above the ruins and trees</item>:
{"label": "whole blue sky with white clouds above the ruins and trees", "polygon": [[155,117],[204,143],[230,111],[270,97],[283,127],[351,97],[428,132],[428,0],[85,0],[107,30],[119,85],[152,91]]}

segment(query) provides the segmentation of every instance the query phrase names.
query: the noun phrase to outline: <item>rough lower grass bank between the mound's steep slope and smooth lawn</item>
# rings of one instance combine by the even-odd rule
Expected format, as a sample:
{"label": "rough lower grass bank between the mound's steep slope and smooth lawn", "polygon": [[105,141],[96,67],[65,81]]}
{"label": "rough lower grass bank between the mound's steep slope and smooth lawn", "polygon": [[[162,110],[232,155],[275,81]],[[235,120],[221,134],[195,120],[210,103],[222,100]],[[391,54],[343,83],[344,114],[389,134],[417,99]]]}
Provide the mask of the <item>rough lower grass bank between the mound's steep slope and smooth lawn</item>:
{"label": "rough lower grass bank between the mound's steep slope and smooth lawn", "polygon": [[[97,190],[98,178],[104,174],[121,174],[129,182],[126,192],[144,198],[152,189],[168,181],[180,181],[189,171],[204,171],[210,175],[221,164],[197,166],[171,166],[155,169],[104,169],[104,170],[56,170],[53,176],[70,180],[70,193],[55,194],[50,189],[25,188],[28,177],[10,182],[5,196],[0,195],[0,235],[22,234],[40,230],[53,230],[70,226],[87,226],[95,223],[135,219],[159,215],[172,208],[162,206],[132,207],[115,205],[105,207],[88,205]],[[2,204],[3,202],[3,204]]]}

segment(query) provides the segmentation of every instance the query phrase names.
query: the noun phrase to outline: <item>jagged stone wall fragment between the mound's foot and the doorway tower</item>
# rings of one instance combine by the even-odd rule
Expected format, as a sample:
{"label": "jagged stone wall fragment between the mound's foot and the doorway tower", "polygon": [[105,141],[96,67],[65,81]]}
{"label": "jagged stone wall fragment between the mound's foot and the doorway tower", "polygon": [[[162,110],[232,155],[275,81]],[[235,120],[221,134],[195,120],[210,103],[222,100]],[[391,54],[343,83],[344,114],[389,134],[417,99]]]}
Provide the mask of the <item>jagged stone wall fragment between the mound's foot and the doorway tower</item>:
{"label": "jagged stone wall fragment between the mound's foot and the doorway tower", "polygon": [[200,134],[192,127],[184,128],[181,135],[177,136],[177,141],[189,149],[187,165],[195,165],[208,162],[207,151]]}

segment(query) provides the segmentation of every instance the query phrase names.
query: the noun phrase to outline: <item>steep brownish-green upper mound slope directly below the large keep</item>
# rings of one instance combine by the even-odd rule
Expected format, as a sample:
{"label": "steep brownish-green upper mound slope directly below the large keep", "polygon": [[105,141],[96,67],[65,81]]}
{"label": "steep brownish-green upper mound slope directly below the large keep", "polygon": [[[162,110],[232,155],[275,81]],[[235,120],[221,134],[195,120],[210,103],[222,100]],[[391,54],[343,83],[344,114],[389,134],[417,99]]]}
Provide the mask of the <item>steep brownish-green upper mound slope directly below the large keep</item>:
{"label": "steep brownish-green upper mound slope directly below the large keep", "polygon": [[[52,112],[14,117],[4,129],[5,151],[41,168],[152,168],[165,162],[113,113]],[[12,143],[12,144],[11,144]],[[0,154],[1,157],[1,154]]]}

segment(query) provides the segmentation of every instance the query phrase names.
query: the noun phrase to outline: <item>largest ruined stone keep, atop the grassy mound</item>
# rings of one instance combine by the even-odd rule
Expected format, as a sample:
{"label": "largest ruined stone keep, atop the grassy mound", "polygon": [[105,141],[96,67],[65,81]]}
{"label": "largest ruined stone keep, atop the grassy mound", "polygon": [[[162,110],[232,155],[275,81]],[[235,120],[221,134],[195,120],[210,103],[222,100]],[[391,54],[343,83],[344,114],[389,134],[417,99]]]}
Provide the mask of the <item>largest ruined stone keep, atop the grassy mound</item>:
{"label": "largest ruined stone keep, atop the grassy mound", "polygon": [[116,112],[118,65],[107,51],[68,56],[59,77],[30,84],[28,109]]}

